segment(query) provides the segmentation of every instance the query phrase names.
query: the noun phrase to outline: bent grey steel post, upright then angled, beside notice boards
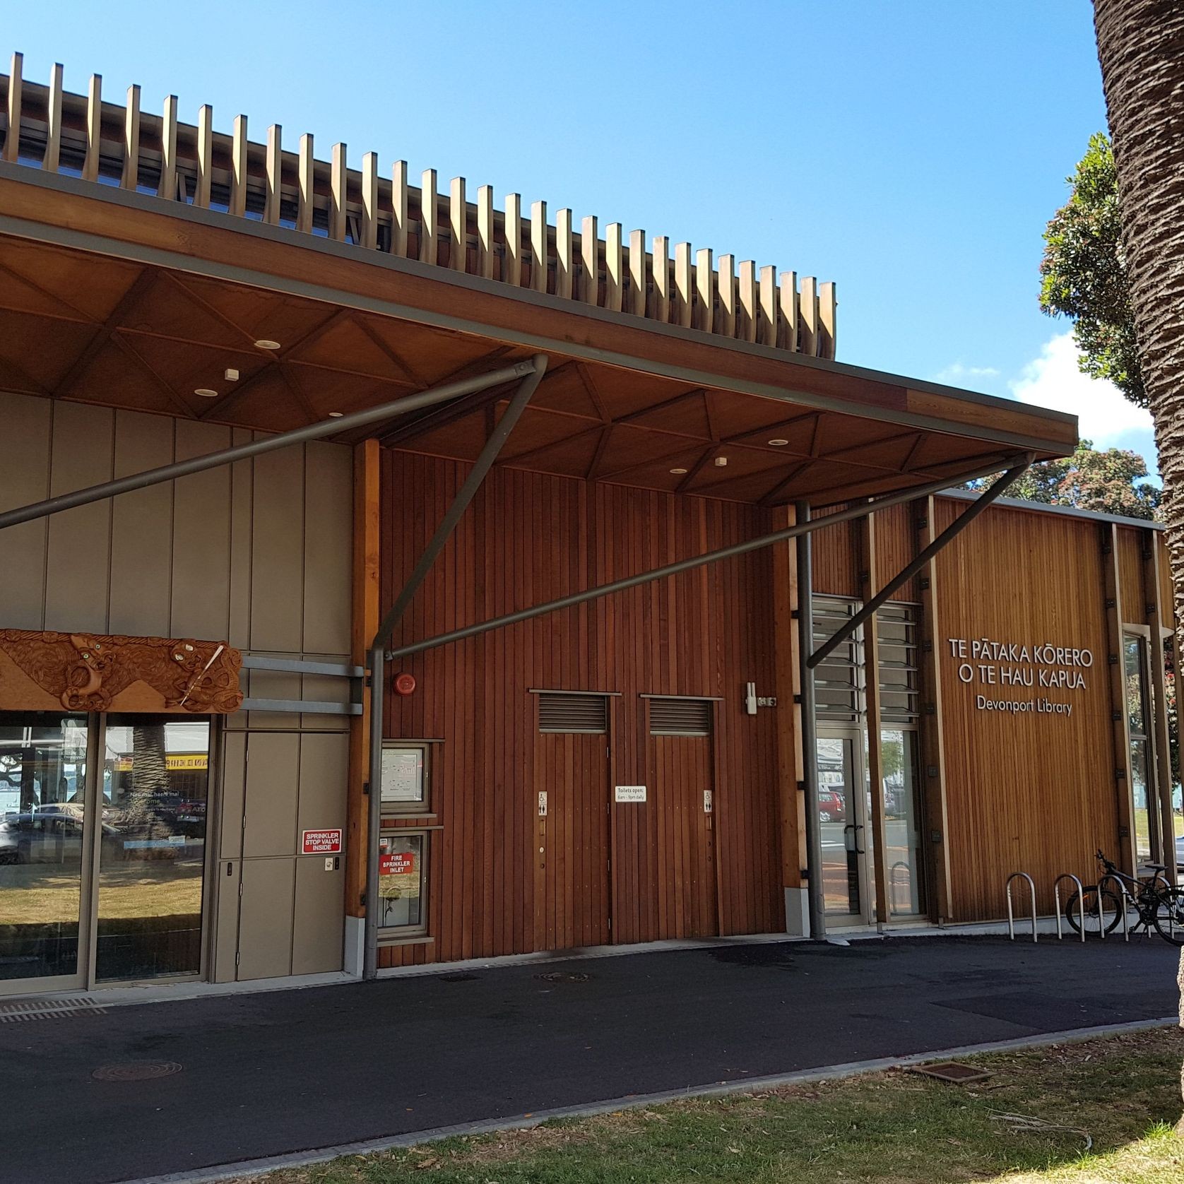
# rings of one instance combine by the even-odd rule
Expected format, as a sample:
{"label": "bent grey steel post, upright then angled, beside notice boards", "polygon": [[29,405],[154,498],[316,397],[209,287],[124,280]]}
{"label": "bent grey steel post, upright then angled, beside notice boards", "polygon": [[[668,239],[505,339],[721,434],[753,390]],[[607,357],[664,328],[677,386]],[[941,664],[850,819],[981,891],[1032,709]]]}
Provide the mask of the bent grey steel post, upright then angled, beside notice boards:
{"label": "bent grey steel post, upright then angled, beside notice boards", "polygon": [[385,651],[386,643],[391,639],[395,626],[403,619],[416,592],[419,591],[432,564],[439,558],[445,543],[456,529],[457,522],[469,508],[472,498],[477,495],[489,470],[502,451],[503,445],[509,439],[514,425],[519,422],[527,404],[542,381],[542,375],[547,372],[547,355],[536,354],[529,362],[529,372],[519,384],[517,391],[510,399],[506,413],[497,420],[496,426],[485,440],[485,446],[481,450],[472,469],[469,470],[464,484],[457,490],[452,504],[448,508],[444,517],[440,519],[436,533],[424,548],[418,562],[407,577],[407,583],[395,598],[387,614],[382,618],[374,642],[371,645],[371,746],[369,746],[369,800],[367,802],[368,826],[366,830],[367,843],[369,844],[369,856],[366,861],[366,927],[365,927],[365,957],[362,961],[362,977],[375,978],[378,976],[378,909],[379,909],[379,869],[378,869],[378,834],[382,825],[382,699],[386,680]]}

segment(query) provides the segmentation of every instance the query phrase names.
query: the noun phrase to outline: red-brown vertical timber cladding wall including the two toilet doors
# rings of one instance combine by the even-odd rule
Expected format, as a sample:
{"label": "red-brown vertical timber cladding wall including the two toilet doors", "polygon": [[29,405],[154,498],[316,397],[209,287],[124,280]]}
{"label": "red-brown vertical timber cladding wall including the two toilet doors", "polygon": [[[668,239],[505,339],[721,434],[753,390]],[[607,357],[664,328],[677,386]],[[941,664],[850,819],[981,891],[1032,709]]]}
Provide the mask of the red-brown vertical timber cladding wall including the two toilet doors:
{"label": "red-brown vertical timber cladding wall including the two toilet doors", "polygon": [[[384,607],[465,471],[384,451]],[[755,507],[496,468],[393,645],[768,529]],[[440,829],[432,940],[386,945],[380,965],[783,929],[776,727],[792,707],[744,704],[746,682],[773,693],[772,635],[758,552],[395,663],[418,687],[388,696],[385,732],[439,741]],[[539,689],[611,693],[607,732],[541,732]],[[712,699],[709,734],[652,735],[646,695]],[[645,802],[616,803],[617,785]]]}

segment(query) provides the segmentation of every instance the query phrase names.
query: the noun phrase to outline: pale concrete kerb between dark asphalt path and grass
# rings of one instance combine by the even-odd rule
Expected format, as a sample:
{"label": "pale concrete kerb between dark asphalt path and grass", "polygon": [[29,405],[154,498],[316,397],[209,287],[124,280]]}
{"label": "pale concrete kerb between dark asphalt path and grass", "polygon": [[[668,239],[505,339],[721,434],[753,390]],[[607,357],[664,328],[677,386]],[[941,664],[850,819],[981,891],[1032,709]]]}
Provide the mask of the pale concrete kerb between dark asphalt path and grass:
{"label": "pale concrete kerb between dark asphalt path and grass", "polygon": [[1083,1041],[1102,1036],[1121,1036],[1130,1032],[1151,1031],[1157,1028],[1175,1028],[1179,1023],[1179,1017],[1169,1016],[1163,1019],[1139,1019],[1125,1024],[1072,1028],[1068,1031],[1018,1036],[1012,1040],[991,1041],[984,1044],[964,1044],[959,1048],[947,1048],[932,1053],[915,1053],[910,1056],[880,1057],[874,1061],[850,1061],[845,1064],[829,1064],[817,1069],[800,1069],[796,1073],[749,1077],[744,1081],[716,1081],[710,1085],[688,1086],[684,1089],[667,1089],[652,1094],[628,1094],[624,1098],[610,1098],[604,1101],[587,1102],[579,1106],[561,1106],[549,1111],[517,1114],[514,1118],[459,1122],[456,1126],[440,1126],[427,1131],[414,1131],[408,1134],[391,1135],[385,1139],[368,1139],[365,1143],[346,1143],[336,1147],[318,1147],[314,1151],[269,1156],[264,1159],[246,1159],[238,1164],[220,1164],[214,1167],[200,1167],[194,1171],[170,1172],[167,1176],[146,1176],[137,1179],[122,1180],[120,1184],[218,1184],[218,1182],[225,1180],[250,1180],[268,1172],[291,1167],[309,1167],[314,1164],[323,1164],[332,1159],[339,1159],[342,1156],[368,1156],[375,1152],[394,1151],[399,1147],[413,1147],[419,1144],[452,1139],[459,1135],[493,1134],[498,1131],[525,1131],[530,1127],[541,1126],[543,1122],[549,1122],[553,1119],[593,1118],[597,1114],[611,1114],[616,1111],[659,1106],[663,1102],[678,1101],[686,1098],[725,1098],[735,1094],[757,1094],[765,1089],[778,1089],[783,1086],[809,1085],[813,1081],[837,1081],[842,1077],[854,1077],[864,1073],[905,1069],[916,1064],[926,1064],[931,1061],[948,1061],[960,1056],[979,1056],[987,1053],[1048,1048],[1051,1044],[1080,1044]]}

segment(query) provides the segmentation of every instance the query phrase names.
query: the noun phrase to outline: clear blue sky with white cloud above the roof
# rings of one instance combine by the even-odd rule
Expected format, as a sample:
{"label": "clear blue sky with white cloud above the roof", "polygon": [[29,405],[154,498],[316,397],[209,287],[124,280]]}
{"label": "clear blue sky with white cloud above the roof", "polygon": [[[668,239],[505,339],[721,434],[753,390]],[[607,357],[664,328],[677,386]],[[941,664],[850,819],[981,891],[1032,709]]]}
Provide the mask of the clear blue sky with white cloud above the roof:
{"label": "clear blue sky with white cloud above the roof", "polygon": [[1152,453],[1037,308],[1041,232],[1105,126],[1087,0],[12,0],[5,58],[168,94],[838,285],[838,355],[1076,411]]}

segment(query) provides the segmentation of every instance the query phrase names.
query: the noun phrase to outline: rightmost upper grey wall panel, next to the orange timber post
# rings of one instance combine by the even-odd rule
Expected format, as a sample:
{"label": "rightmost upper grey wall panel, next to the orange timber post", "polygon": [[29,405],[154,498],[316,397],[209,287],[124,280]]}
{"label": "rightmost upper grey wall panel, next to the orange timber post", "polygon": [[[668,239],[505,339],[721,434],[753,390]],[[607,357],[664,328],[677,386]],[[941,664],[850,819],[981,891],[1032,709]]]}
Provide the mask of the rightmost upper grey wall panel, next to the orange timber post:
{"label": "rightmost upper grey wall panel, next to the orange timber post", "polygon": [[349,652],[353,457],[304,448],[304,652]]}

